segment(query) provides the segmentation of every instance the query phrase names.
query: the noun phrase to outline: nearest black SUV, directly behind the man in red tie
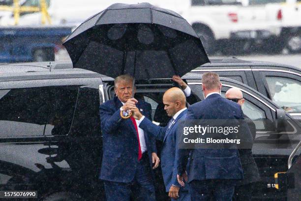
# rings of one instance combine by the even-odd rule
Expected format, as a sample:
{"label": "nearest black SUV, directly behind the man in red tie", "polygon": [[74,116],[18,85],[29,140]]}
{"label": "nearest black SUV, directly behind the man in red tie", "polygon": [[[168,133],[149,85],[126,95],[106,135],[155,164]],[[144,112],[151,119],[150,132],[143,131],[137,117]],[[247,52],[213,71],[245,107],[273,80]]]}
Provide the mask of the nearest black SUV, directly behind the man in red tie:
{"label": "nearest black SUV, directly behind the man in red tie", "polygon": [[[200,75],[187,73],[183,78],[196,99],[203,99]],[[98,108],[115,96],[113,81],[68,63],[0,66],[0,191],[36,190],[41,201],[105,200],[98,179],[102,156]],[[261,180],[254,199],[285,200],[300,189],[277,190],[274,173],[288,169],[290,155],[292,167],[300,169],[296,158],[301,125],[254,89],[233,79],[221,81],[223,93],[229,87],[241,88],[246,99],[243,110],[256,123],[253,154]],[[158,116],[162,114],[158,105],[172,86],[170,79],[136,84],[136,95],[151,103],[152,118],[159,123],[167,117]],[[285,116],[290,125],[283,130],[283,124],[273,122]],[[157,200],[166,201],[160,168],[155,175]]]}

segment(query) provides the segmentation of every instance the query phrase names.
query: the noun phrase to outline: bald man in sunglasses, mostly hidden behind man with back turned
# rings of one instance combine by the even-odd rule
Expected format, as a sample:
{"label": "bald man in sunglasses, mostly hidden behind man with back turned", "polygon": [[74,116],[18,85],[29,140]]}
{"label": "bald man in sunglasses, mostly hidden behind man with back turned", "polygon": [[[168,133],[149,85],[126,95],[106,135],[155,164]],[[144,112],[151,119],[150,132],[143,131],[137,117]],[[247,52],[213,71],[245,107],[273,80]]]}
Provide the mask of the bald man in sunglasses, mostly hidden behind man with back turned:
{"label": "bald man in sunglasses, mostly hidden behind man with back turned", "polygon": [[[238,88],[231,88],[226,92],[226,99],[232,100],[239,105],[243,105],[244,99],[242,92]],[[256,127],[254,122],[244,114],[244,120],[248,124],[253,140],[256,135]],[[252,155],[252,149],[239,149],[241,158],[241,167],[243,170],[243,178],[239,181],[234,190],[233,201],[251,201],[252,198],[252,185],[259,180],[258,167]]]}

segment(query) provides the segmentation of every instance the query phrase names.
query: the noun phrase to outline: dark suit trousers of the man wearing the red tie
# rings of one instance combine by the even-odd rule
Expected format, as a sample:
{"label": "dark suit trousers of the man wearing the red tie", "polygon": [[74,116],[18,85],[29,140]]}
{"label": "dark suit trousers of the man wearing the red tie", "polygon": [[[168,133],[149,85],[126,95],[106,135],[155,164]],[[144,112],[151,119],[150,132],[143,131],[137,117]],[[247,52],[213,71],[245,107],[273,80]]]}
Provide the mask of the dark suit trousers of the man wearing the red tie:
{"label": "dark suit trousers of the man wearing the red tie", "polygon": [[[129,164],[130,165],[130,164]],[[130,183],[104,181],[107,201],[155,201],[155,189],[147,153],[138,162],[134,180]]]}

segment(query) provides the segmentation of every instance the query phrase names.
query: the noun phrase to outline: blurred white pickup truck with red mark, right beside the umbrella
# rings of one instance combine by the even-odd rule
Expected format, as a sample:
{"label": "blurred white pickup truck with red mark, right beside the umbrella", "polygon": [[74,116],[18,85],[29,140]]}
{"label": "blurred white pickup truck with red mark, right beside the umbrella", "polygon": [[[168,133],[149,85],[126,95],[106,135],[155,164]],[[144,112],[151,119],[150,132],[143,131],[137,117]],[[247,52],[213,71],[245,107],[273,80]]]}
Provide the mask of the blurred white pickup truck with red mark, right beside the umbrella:
{"label": "blurred white pickup truck with red mark, right beside the umbrella", "polygon": [[182,0],[189,5],[182,16],[200,35],[211,54],[247,52],[251,45],[274,44],[280,35],[276,18],[269,19],[262,9],[243,6],[238,0]]}

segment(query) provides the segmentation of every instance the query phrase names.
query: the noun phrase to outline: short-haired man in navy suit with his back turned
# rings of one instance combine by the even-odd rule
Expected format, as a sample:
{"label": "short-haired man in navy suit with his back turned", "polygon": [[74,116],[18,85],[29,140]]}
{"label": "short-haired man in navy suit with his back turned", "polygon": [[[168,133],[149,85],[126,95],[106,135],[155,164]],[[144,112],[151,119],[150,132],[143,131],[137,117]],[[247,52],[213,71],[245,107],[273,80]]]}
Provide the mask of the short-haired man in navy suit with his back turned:
{"label": "short-haired man in navy suit with his back turned", "polygon": [[[206,99],[188,108],[186,120],[243,119],[241,106],[220,96],[222,85],[218,74],[204,73],[202,83]],[[242,126],[242,131],[252,140],[247,125]],[[180,149],[178,172],[179,183],[184,185],[183,180],[188,182],[191,201],[211,201],[212,198],[232,201],[235,184],[243,178],[237,149]]]}

